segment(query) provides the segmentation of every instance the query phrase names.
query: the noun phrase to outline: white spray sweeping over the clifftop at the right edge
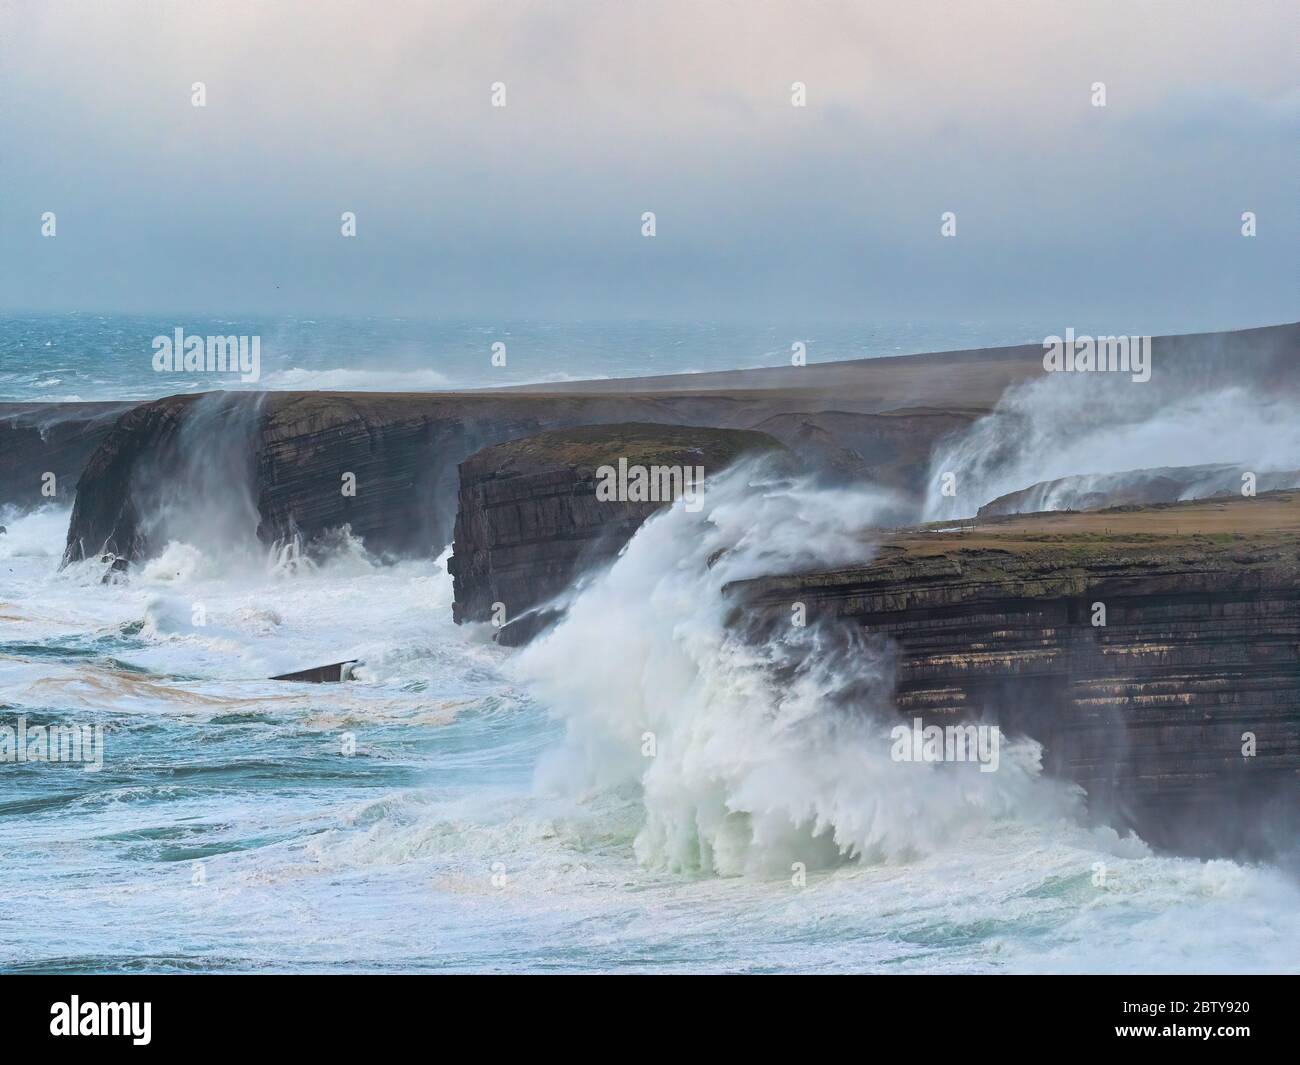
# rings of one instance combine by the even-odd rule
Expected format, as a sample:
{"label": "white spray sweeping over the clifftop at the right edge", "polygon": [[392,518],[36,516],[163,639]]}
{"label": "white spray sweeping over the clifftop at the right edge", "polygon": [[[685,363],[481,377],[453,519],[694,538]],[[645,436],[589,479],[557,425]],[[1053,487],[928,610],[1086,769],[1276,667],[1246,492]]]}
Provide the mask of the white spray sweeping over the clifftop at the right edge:
{"label": "white spray sweeping over the clifftop at the right edge", "polygon": [[[1295,398],[1251,384],[1183,384],[1158,371],[1145,384],[1115,373],[1050,373],[1009,390],[992,415],[939,447],[924,518],[967,518],[1000,495],[1058,477],[1217,463],[1257,475],[1300,468]],[[952,494],[944,493],[948,473]],[[1221,489],[1222,480],[1206,479],[1186,495]],[[1067,508],[1075,499],[1044,494],[1040,505]]]}

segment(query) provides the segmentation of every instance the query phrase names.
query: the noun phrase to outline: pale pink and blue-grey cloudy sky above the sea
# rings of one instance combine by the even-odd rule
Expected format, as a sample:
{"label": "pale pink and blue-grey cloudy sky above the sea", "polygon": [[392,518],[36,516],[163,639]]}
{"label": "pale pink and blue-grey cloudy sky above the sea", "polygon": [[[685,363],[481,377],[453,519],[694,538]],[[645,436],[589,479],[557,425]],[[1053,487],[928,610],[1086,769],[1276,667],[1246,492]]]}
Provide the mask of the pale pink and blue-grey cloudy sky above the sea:
{"label": "pale pink and blue-grey cloudy sky above the sea", "polygon": [[1290,321],[1296,29],[1269,0],[0,0],[0,309]]}

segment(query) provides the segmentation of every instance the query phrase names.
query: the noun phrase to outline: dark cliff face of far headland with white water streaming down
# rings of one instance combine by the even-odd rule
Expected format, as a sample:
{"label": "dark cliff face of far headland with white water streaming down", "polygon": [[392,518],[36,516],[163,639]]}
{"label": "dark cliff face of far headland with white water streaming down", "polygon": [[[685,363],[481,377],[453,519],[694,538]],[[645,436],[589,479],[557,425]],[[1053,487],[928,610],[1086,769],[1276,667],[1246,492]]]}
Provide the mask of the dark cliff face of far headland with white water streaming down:
{"label": "dark cliff face of far headland with white water streaming down", "polygon": [[[143,557],[194,531],[199,523],[186,514],[217,508],[250,510],[250,532],[264,542],[295,534],[309,542],[350,525],[370,550],[428,554],[451,538],[459,463],[493,443],[576,425],[637,421],[707,430],[775,420],[770,436],[788,440],[811,467],[837,472],[845,469],[841,456],[848,468],[862,469],[897,454],[896,440],[879,450],[863,443],[872,434],[862,427],[878,421],[878,414],[836,412],[818,441],[781,417],[815,402],[803,393],[170,397],[124,415],[86,464],[66,559],[105,545],[121,557]],[[853,406],[848,397],[842,402]],[[894,437],[907,436],[909,454],[922,455],[954,421],[968,417],[905,416],[889,425]],[[355,490],[344,490],[348,481]]]}

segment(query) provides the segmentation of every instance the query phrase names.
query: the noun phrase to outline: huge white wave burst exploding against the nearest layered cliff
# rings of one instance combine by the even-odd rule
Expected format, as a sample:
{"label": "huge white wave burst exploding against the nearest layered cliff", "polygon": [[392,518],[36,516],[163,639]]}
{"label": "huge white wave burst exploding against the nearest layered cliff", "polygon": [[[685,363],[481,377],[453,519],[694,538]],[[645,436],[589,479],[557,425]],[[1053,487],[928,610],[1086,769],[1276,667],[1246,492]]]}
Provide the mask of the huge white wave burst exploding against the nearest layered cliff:
{"label": "huge white wave burst exploding against the nearest layered cliff", "polygon": [[758,644],[731,624],[731,581],[862,562],[896,514],[883,493],[744,466],[708,484],[703,511],[651,519],[519,658],[567,726],[540,782],[640,788],[641,862],[722,875],[906,860],[1000,818],[1063,813],[1034,743],[1004,743],[987,775],[890,761],[885,645],[815,619]]}

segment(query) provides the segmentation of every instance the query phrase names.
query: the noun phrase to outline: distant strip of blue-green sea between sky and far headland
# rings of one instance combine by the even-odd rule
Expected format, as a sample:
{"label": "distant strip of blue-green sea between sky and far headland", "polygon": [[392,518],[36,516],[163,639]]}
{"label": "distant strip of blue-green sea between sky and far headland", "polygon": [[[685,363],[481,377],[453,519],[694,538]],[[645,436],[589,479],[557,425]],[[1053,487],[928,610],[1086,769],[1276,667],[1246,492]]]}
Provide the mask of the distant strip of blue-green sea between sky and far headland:
{"label": "distant strip of blue-green sea between sky and far headland", "polygon": [[[159,373],[155,337],[260,337],[261,380]],[[1043,322],[894,322],[871,326],[720,322],[429,322],[407,319],[259,319],[195,315],[0,315],[0,402],[153,399],[213,389],[433,391],[692,373],[1008,343],[1041,343]],[[506,346],[493,365],[493,345]]]}

